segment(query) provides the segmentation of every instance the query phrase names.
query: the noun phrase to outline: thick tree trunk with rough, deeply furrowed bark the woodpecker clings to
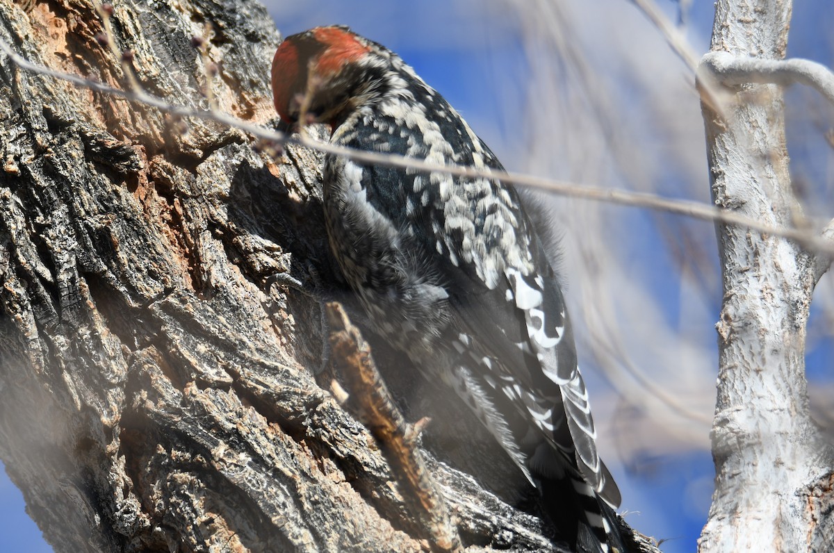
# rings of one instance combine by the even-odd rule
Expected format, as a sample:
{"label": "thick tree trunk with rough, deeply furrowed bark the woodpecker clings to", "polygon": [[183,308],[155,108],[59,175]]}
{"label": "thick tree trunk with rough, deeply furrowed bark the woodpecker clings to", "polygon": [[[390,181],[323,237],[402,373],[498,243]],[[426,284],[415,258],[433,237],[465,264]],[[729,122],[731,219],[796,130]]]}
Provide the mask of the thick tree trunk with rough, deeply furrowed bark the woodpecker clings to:
{"label": "thick tree trunk with rough, deeply furrowed bark the woodpecker clings to", "polygon": [[[259,4],[121,2],[112,22],[149,93],[206,108],[211,87],[219,109],[276,124],[279,34]],[[86,0],[0,0],[18,53],[128,86],[102,32]],[[191,43],[203,35],[208,81]],[[0,458],[56,550],[433,546],[374,439],[325,391],[339,375],[314,377],[319,299],[342,289],[318,154],[270,157],[234,128],[0,57],[0,161]],[[463,544],[560,550],[476,421],[376,347],[411,420],[451,421],[430,425],[439,453],[424,453]]]}

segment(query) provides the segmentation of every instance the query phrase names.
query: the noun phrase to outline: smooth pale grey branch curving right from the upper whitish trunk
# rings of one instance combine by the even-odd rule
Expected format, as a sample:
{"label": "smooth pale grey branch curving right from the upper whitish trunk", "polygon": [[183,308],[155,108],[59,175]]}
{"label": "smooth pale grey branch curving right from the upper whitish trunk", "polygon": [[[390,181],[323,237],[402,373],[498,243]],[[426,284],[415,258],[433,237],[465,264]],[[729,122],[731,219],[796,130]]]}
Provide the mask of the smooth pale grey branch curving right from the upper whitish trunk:
{"label": "smooth pale grey branch curving right from the upper whitish trunk", "polygon": [[834,73],[810,59],[741,58],[728,52],[710,52],[701,58],[701,67],[727,86],[805,84],[834,104]]}

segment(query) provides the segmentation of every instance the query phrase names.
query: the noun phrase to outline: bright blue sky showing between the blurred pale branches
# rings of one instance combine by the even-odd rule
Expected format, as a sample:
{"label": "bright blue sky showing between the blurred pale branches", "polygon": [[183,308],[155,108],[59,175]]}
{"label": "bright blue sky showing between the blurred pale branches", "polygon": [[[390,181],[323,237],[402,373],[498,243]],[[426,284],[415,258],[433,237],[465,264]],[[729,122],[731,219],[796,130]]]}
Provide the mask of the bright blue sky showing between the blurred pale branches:
{"label": "bright blue sky showing between the blurred pale branches", "polygon": [[[618,2],[631,5],[626,0]],[[505,3],[465,0],[457,3],[440,0],[421,3],[307,0],[273,1],[268,5],[279,29],[285,34],[297,33],[320,24],[343,23],[369,38],[384,43],[397,51],[406,62],[414,66],[417,73],[444,94],[475,131],[490,143],[508,168],[536,172],[537,168],[543,167],[535,163],[525,164],[524,156],[519,155],[519,149],[524,146],[520,140],[515,140],[524,130],[518,128],[516,122],[525,118],[526,110],[529,108],[530,97],[527,96],[525,83],[530,78],[530,72],[536,71],[538,66],[526,57],[524,37],[520,36],[520,27],[515,18],[505,17]],[[661,2],[660,5],[667,13],[674,13],[676,3]],[[621,33],[631,41],[634,48],[664,48],[661,39],[651,42],[651,37],[643,36],[645,28],[628,28],[628,25],[640,20],[639,14],[625,13],[624,18],[613,17],[613,22],[605,23],[606,17],[612,18],[610,13],[588,12],[592,10],[580,13],[576,21],[600,26],[599,28],[603,29],[600,33]],[[696,0],[692,3],[687,38],[699,52],[708,45],[711,18],[711,2]],[[606,31],[605,24],[611,24],[612,27]],[[834,28],[834,3],[830,0],[796,3],[791,24],[789,54],[811,58],[831,67],[834,52],[831,28]],[[652,125],[659,125],[662,121],[646,121],[644,109],[651,99],[646,96],[646,89],[641,88],[641,83],[634,77],[634,68],[621,63],[616,66],[611,64],[612,56],[610,52],[605,51],[605,41],[600,40],[599,43],[600,50],[587,52],[587,55],[590,60],[599,61],[598,71],[606,73],[603,75],[605,83],[614,83],[619,89],[619,99],[634,107],[634,113],[624,116],[628,118],[624,119],[624,124],[645,127],[645,133],[649,136],[641,138],[651,143],[651,148],[657,148],[657,152],[660,153],[656,154],[656,157],[665,160],[660,167],[652,169],[651,180],[655,181],[655,189],[676,197],[692,194],[698,196],[697,191],[692,193],[688,186],[681,186],[678,179],[682,168],[694,163],[695,169],[690,168],[689,171],[695,175],[696,186],[704,187],[701,194],[706,194],[706,164],[702,168],[698,167],[703,157],[703,143],[698,154],[701,158],[696,157],[694,162],[691,159],[666,157],[665,153],[674,148],[675,143],[672,141],[670,145],[661,131],[653,130],[659,127]],[[646,43],[649,43],[648,46]],[[686,71],[676,68],[674,62],[668,61],[668,58],[663,59],[664,65],[653,70],[659,73],[671,67],[671,80],[679,78],[686,86]],[[686,101],[696,103],[694,98]],[[827,124],[831,124],[831,108],[821,105],[813,93],[801,88],[792,88],[789,91],[787,113],[791,167],[796,178],[810,183],[822,183],[827,189],[831,187],[831,174],[834,174],[831,171],[831,148],[821,141],[819,133],[809,131],[809,128],[813,127],[813,115],[809,113],[809,106],[824,113],[829,121]],[[697,117],[697,105],[688,108]],[[623,113],[626,110],[619,108],[617,111]],[[554,133],[560,133],[560,130],[562,129],[555,128]],[[653,142],[652,133],[655,133]],[[701,133],[702,137],[702,128],[696,128],[696,133]],[[695,139],[697,140],[697,136]],[[699,179],[702,180],[701,184],[697,182]],[[608,182],[617,183],[615,180],[601,179],[601,183]],[[680,189],[676,188],[679,186]],[[820,211],[821,215],[827,212],[829,217],[831,216],[831,209],[827,204],[823,204]],[[659,234],[663,232],[662,223],[665,218],[636,211],[623,214],[621,209],[617,209],[615,213],[618,224],[625,222],[631,233],[641,237],[628,244],[628,251],[620,254],[630,259],[626,269],[639,272],[641,279],[650,284],[648,288],[660,298],[661,320],[676,332],[685,334],[690,332],[687,321],[690,320],[688,314],[691,309],[702,311],[704,320],[714,322],[720,305],[719,294],[715,291],[704,294],[702,305],[693,308],[689,300],[682,299],[691,284],[686,284],[681,279],[671,279],[669,275],[676,272],[676,264],[669,254],[658,253],[658,243],[662,241]],[[713,242],[711,249],[706,246],[707,263],[703,269],[707,274],[706,279],[714,283],[714,235],[710,238],[711,230],[706,228],[706,225],[696,229],[706,236],[706,243],[710,239]],[[569,238],[571,234],[576,234],[576,231],[568,231]],[[568,284],[569,295],[571,292],[579,294],[579,284]],[[708,284],[706,289],[710,289]],[[615,290],[614,293],[616,292]],[[577,312],[577,309],[574,311]],[[809,332],[811,337],[815,337],[809,340],[808,351],[811,388],[831,382],[831,330],[826,328],[821,319],[823,316],[817,309],[811,321],[811,326],[817,330]],[[709,323],[700,326],[701,328],[687,334],[686,339],[696,342],[698,348],[706,351],[706,359],[711,359],[714,366],[714,331]],[[589,387],[592,391],[602,390],[601,397],[609,397],[605,395],[605,379],[595,375],[593,369],[590,367]],[[585,373],[588,372],[589,369],[585,369]],[[714,381],[715,376],[707,374],[705,378]],[[592,399],[594,397],[597,396],[592,396]],[[596,407],[597,404],[595,409]],[[711,415],[708,409],[706,411],[707,415]],[[611,431],[612,427],[606,425],[600,429],[600,435]],[[667,553],[684,553],[696,549],[696,539],[706,520],[706,510],[709,507],[712,475],[711,455],[708,450],[700,447],[676,446],[670,447],[667,451],[662,448],[638,450],[636,455],[629,456],[615,470],[615,477],[625,498],[624,507],[633,513],[627,520],[644,533],[665,539],[662,549]],[[23,496],[6,478],[4,471],[0,474],[0,534],[3,535],[4,547],[9,551],[51,550],[43,542],[40,530],[25,514]]]}

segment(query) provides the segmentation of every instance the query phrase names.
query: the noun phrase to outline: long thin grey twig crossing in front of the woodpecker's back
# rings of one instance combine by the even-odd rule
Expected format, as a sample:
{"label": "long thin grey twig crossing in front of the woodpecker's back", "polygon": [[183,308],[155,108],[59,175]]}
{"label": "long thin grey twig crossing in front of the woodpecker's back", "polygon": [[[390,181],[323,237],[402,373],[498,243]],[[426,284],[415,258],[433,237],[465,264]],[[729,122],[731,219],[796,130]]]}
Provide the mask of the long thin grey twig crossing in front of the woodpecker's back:
{"label": "long thin grey twig crossing in front of the woodpecker's back", "polygon": [[667,199],[656,194],[635,192],[631,190],[606,189],[598,186],[554,180],[552,178],[541,178],[529,174],[507,173],[505,171],[461,167],[458,165],[438,165],[421,159],[406,158],[404,156],[394,155],[391,153],[377,153],[352,148],[343,148],[331,143],[321,142],[314,138],[290,136],[287,133],[281,133],[279,131],[261,127],[254,123],[234,118],[217,110],[203,110],[176,106],[163,101],[161,98],[145,93],[141,88],[134,89],[133,91],[125,91],[119,88],[113,88],[104,83],[99,83],[98,81],[80,77],[78,75],[62,73],[50,68],[45,68],[18,56],[18,54],[14,53],[12,49],[9,48],[8,44],[2,39],[0,39],[0,50],[3,50],[12,62],[15,63],[15,65],[26,71],[68,81],[69,83],[73,83],[80,88],[89,88],[96,92],[107,93],[120,98],[141,102],[148,106],[152,106],[153,108],[158,108],[165,113],[222,123],[231,128],[239,128],[254,137],[262,138],[273,143],[298,144],[300,146],[304,146],[305,148],[318,150],[319,152],[344,156],[346,158],[353,159],[354,161],[369,164],[398,168],[411,168],[425,172],[447,173],[466,178],[495,178],[505,183],[530,186],[537,189],[547,190],[555,194],[570,196],[572,198],[590,199],[608,202],[610,204],[620,204],[638,208],[657,209],[672,214],[685,215],[694,219],[703,219],[722,224],[746,227],[747,229],[754,230],[761,234],[781,236],[786,239],[796,240],[796,242],[801,244],[801,246],[805,249],[834,255],[834,244],[831,244],[828,240],[821,239],[806,229],[777,227],[756,219],[751,219],[728,209],[720,209],[711,205],[701,204],[690,200]]}

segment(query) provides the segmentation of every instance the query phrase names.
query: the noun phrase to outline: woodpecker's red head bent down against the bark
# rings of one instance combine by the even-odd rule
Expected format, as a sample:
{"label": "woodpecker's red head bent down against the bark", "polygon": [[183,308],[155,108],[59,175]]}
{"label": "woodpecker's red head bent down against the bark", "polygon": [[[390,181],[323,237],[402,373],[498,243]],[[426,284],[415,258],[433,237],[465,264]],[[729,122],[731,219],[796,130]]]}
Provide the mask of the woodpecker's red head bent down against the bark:
{"label": "woodpecker's red head bent down against the bark", "polygon": [[284,122],[335,126],[369,98],[370,72],[384,71],[379,45],[342,26],[287,37],[272,62],[275,109]]}

